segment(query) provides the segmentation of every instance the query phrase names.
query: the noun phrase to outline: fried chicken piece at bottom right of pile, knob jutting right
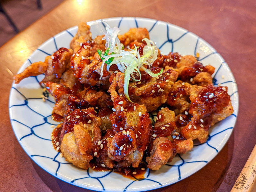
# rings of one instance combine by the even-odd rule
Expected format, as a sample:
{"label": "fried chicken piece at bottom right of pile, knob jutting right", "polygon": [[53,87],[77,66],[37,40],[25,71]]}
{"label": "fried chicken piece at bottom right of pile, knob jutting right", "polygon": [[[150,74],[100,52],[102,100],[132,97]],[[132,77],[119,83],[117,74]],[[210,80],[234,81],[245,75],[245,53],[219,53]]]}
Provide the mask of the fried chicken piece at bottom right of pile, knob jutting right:
{"label": "fried chicken piece at bottom right of pile, knob jutting right", "polygon": [[177,153],[186,153],[192,147],[192,139],[186,140],[176,127],[174,112],[163,108],[156,117],[151,145],[146,157],[147,167],[158,170],[168,161],[172,161]]}

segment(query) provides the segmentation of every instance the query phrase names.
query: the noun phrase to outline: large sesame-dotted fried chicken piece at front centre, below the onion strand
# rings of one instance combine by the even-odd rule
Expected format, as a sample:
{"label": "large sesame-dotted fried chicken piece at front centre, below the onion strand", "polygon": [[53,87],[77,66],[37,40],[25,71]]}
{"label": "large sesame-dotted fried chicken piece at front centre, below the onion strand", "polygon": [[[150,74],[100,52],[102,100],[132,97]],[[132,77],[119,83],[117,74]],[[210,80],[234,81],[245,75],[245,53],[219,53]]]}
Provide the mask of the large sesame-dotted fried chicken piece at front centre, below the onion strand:
{"label": "large sesame-dotted fried chicken piece at front centre, below the onion strand", "polygon": [[145,105],[131,103],[117,94],[117,84],[116,77],[113,77],[108,92],[114,102],[110,120],[115,135],[108,140],[108,156],[118,162],[126,160],[133,167],[138,167],[149,143],[151,120]]}

